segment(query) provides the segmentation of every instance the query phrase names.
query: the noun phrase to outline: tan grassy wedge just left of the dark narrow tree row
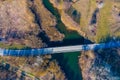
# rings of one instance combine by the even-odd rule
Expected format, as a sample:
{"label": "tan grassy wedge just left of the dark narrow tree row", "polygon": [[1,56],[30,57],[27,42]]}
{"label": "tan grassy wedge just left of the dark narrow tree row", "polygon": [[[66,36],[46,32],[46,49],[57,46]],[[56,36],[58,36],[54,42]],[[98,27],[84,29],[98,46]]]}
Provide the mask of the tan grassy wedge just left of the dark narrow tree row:
{"label": "tan grassy wedge just left of the dark narrow tree row", "polygon": [[89,20],[96,8],[95,0],[80,0],[72,6],[81,13],[80,26],[85,30],[88,28]]}

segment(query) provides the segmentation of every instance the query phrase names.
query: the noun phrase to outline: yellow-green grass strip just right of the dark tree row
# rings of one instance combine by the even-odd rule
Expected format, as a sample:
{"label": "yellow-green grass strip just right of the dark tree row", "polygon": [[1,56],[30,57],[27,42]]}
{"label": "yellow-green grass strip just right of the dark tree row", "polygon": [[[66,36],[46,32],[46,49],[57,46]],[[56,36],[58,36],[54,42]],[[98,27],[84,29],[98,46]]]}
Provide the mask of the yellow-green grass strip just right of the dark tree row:
{"label": "yellow-green grass strip just right of the dark tree row", "polygon": [[110,11],[112,7],[112,2],[110,0],[106,0],[104,7],[100,10],[98,27],[97,27],[97,35],[95,37],[96,42],[101,42],[110,34],[109,32],[109,24],[110,24]]}

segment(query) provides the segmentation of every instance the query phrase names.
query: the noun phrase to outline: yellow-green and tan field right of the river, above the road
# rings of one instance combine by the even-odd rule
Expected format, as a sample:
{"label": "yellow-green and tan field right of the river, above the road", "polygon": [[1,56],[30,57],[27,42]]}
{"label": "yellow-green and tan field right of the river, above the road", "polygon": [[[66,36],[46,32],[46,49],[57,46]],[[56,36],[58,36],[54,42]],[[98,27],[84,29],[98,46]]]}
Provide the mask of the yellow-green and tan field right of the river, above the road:
{"label": "yellow-green and tan field right of the river, above the road", "polygon": [[93,12],[97,8],[96,0],[80,0],[72,6],[81,13],[80,27],[82,30],[87,33],[90,39],[99,43],[106,41],[109,36],[120,36],[120,21],[114,19],[112,13],[113,6],[117,5],[119,7],[119,4],[112,0],[104,0],[104,6],[99,9],[99,13],[97,14],[96,35],[94,36],[90,33],[88,26],[90,25]]}

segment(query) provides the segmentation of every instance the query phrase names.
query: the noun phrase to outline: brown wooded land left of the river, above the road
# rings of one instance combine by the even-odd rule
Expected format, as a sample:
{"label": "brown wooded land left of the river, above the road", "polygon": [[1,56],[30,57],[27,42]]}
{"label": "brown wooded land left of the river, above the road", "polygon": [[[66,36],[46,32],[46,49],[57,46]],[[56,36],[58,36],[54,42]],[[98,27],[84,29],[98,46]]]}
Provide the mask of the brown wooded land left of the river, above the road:
{"label": "brown wooded land left of the river, above the road", "polygon": [[61,41],[64,35],[55,25],[55,17],[44,7],[41,0],[0,1],[0,38],[5,41],[1,44],[5,48],[9,48],[9,45],[13,45],[12,48],[14,45],[43,47],[45,44],[42,42],[41,33],[50,41]]}

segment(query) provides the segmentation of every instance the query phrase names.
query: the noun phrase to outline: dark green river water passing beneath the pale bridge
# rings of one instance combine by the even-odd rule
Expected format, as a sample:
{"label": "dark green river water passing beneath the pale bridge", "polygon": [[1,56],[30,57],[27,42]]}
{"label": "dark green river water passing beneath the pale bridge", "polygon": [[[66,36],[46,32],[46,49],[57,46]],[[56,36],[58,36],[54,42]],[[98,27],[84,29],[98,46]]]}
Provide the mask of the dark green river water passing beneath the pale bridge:
{"label": "dark green river water passing beneath the pale bridge", "polygon": [[[53,5],[49,2],[49,0],[43,0],[43,4],[45,7],[56,17],[57,25],[56,28],[65,35],[65,39],[62,43],[50,43],[48,42],[48,46],[64,46],[64,45],[78,45],[84,43],[84,38],[81,37],[77,32],[68,31],[65,25],[62,23],[60,19],[60,14],[53,7]],[[44,38],[44,37],[43,37]],[[54,59],[56,59],[61,66],[61,69],[65,73],[65,76],[68,80],[82,80],[81,70],[78,64],[78,56],[80,56],[80,52],[72,52],[72,53],[61,53],[52,55]]]}

